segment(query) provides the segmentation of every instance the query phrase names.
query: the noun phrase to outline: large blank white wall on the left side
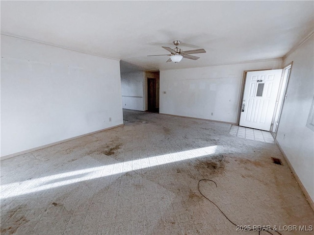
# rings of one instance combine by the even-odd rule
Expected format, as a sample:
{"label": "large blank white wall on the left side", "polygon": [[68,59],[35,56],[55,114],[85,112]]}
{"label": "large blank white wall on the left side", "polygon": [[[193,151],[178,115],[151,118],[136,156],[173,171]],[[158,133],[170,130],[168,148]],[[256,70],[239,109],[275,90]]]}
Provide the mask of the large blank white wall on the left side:
{"label": "large blank white wall on the left side", "polygon": [[1,156],[122,123],[119,61],[1,35]]}

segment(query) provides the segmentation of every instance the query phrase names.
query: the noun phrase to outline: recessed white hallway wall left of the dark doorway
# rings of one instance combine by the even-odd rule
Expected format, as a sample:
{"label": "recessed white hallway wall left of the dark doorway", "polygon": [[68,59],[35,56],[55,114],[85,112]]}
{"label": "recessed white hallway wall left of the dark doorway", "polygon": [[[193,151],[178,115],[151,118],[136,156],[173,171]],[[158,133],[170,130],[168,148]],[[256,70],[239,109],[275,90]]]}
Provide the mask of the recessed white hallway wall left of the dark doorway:
{"label": "recessed white hallway wall left of the dark doorway", "polygon": [[144,111],[145,72],[121,73],[122,106],[124,109]]}

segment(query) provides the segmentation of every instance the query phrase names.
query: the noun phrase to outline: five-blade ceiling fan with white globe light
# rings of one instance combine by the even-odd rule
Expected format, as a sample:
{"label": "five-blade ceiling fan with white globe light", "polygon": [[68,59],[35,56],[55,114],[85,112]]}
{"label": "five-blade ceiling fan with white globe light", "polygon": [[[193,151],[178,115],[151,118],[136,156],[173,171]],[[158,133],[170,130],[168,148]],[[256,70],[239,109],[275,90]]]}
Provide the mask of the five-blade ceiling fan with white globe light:
{"label": "five-blade ceiling fan with white globe light", "polygon": [[[190,60],[197,60],[200,57],[190,55],[190,54],[206,53],[205,49],[195,49],[195,50],[182,51],[181,48],[177,47],[180,45],[180,43],[181,43],[181,41],[179,41],[179,40],[173,41],[173,44],[176,46],[176,48],[174,48],[174,49],[171,49],[170,47],[162,47],[162,48],[165,48],[166,50],[168,50],[169,52],[171,52],[171,54],[168,55],[168,56],[170,56],[170,58],[166,62],[172,61],[172,62],[178,63],[182,60],[182,58],[186,58],[186,59],[190,59]],[[148,55],[148,56],[159,56],[159,55]]]}

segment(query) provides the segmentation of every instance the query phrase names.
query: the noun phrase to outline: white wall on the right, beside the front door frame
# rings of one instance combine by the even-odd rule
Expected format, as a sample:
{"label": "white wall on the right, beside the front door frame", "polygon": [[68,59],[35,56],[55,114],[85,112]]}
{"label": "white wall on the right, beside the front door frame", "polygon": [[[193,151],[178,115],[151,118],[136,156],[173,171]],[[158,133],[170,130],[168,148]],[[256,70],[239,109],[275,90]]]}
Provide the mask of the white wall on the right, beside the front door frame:
{"label": "white wall on the right, beside the front door frame", "polygon": [[276,139],[314,201],[314,132],[307,126],[314,98],[313,36],[289,54],[283,66],[292,61]]}

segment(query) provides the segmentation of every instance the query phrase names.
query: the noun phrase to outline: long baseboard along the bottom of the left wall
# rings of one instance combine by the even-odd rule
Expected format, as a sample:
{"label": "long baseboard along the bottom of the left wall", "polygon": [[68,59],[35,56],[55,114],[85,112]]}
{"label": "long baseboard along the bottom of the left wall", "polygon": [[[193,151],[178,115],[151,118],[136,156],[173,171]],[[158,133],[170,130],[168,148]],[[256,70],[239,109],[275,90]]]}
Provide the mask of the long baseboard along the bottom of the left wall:
{"label": "long baseboard along the bottom of the left wall", "polygon": [[0,161],[8,159],[8,158],[17,157],[17,156],[22,155],[22,154],[30,153],[30,152],[33,152],[33,151],[36,151],[36,150],[39,150],[39,149],[42,149],[42,148],[47,148],[47,147],[50,147],[50,146],[53,146],[53,145],[56,145],[56,144],[59,144],[59,143],[64,143],[64,142],[67,142],[67,141],[73,141],[73,140],[76,140],[76,139],[79,139],[79,138],[82,138],[82,137],[85,137],[85,136],[90,136],[90,135],[96,134],[98,132],[110,130],[110,129],[113,129],[113,128],[116,128],[116,127],[119,127],[119,126],[123,126],[123,125],[124,124],[111,126],[111,127],[108,127],[108,128],[102,129],[102,130],[89,132],[89,133],[86,133],[86,134],[83,134],[83,135],[80,135],[80,136],[76,136],[76,137],[72,137],[72,138],[69,138],[69,139],[65,139],[65,140],[62,140],[62,141],[56,141],[56,142],[48,143],[48,144],[45,144],[45,145],[42,145],[42,146],[39,146],[39,147],[30,148],[30,149],[27,149],[27,150],[24,150],[24,151],[21,151],[21,152],[5,155],[5,156],[0,157]]}

